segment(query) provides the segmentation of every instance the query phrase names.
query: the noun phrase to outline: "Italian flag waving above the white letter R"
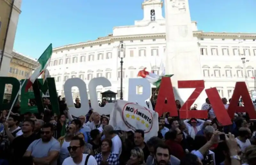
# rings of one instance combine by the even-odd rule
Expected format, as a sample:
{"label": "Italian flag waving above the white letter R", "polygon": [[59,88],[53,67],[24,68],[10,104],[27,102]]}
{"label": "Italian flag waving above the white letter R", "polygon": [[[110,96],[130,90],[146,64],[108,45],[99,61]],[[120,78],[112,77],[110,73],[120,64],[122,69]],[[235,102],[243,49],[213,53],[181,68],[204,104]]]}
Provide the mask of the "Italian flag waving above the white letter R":
{"label": "Italian flag waving above the white letter R", "polygon": [[143,70],[138,72],[138,77],[142,77],[147,79],[151,84],[153,84],[154,86],[156,86],[157,88],[160,86],[161,84],[161,79],[163,77],[172,77],[173,74],[170,75],[164,75],[164,76],[159,76],[157,74],[154,73],[150,73],[148,71],[146,71],[146,68],[144,68]]}

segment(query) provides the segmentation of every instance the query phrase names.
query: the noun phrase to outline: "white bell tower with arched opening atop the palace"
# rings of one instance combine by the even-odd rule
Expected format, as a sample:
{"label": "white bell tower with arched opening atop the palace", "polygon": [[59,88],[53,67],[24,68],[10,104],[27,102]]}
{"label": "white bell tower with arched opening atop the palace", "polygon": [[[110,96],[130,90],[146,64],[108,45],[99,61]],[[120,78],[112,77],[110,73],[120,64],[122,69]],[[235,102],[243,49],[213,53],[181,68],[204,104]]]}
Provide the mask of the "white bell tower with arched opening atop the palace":
{"label": "white bell tower with arched opening atop the palace", "polygon": [[161,0],[144,0],[141,8],[144,13],[142,21],[156,21],[164,19],[162,15],[163,2]]}

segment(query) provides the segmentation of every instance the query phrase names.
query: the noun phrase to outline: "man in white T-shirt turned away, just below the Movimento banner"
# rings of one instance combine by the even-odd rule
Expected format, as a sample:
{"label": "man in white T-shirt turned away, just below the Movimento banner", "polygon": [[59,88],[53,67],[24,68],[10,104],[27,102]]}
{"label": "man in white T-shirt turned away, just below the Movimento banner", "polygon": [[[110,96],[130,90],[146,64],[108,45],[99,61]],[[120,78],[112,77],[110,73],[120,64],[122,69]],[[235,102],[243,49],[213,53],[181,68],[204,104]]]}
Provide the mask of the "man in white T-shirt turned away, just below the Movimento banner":
{"label": "man in white T-shirt turned away, just below the Movimento banner", "polygon": [[120,156],[122,152],[122,141],[119,136],[114,133],[114,128],[112,127],[112,125],[106,125],[104,127],[103,134],[105,135],[106,139],[112,140],[112,154],[117,154],[118,156]]}

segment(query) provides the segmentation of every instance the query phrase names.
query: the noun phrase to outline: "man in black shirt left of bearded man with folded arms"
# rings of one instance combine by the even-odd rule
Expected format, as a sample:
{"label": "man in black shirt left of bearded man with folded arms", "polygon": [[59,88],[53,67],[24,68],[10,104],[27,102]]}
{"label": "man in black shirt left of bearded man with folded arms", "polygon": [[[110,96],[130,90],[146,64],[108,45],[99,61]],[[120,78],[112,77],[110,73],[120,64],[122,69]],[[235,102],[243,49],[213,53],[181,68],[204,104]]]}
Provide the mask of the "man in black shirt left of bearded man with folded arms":
{"label": "man in black shirt left of bearded man with folded arms", "polygon": [[25,120],[22,124],[23,135],[13,139],[11,144],[13,158],[10,162],[11,165],[17,165],[22,160],[24,153],[26,152],[28,146],[36,140],[35,134],[33,134],[33,129],[35,123],[33,120]]}

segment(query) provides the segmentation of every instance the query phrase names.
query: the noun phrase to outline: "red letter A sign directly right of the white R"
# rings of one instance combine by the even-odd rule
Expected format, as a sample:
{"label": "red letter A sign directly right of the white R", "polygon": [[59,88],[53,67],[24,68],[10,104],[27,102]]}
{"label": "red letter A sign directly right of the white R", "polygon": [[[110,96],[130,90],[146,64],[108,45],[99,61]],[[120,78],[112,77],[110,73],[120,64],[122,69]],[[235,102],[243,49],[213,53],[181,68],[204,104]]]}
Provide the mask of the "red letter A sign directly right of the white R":
{"label": "red letter A sign directly right of the white R", "polygon": [[[167,99],[167,104],[165,104],[165,99]],[[172,81],[169,77],[163,77],[161,80],[155,111],[160,115],[162,115],[164,112],[170,112],[171,116],[178,116],[172,89]]]}

